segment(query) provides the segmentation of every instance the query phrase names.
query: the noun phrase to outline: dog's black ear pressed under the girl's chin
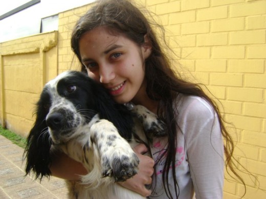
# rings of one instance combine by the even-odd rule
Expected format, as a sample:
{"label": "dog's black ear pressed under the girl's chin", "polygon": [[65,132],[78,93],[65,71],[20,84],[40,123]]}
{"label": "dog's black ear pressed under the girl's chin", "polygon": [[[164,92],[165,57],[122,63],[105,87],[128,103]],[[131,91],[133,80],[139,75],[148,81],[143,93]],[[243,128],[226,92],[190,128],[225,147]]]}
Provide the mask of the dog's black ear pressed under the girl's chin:
{"label": "dog's black ear pressed under the girl's chin", "polygon": [[118,129],[120,135],[130,140],[133,132],[133,115],[123,104],[114,101],[109,92],[100,84],[94,83],[97,111],[101,119],[107,119]]}

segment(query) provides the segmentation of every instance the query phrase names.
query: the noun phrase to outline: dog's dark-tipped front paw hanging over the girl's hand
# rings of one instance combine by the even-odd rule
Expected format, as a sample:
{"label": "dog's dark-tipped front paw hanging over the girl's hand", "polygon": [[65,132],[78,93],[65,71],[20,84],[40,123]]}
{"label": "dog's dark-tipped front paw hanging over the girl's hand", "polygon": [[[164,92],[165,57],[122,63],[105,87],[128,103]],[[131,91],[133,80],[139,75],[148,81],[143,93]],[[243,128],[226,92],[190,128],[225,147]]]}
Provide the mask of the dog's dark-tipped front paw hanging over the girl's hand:
{"label": "dog's dark-tipped front paw hanging over the girl's hand", "polygon": [[138,165],[139,158],[129,145],[127,148],[114,146],[102,156],[102,176],[110,177],[114,182],[123,182],[137,174]]}

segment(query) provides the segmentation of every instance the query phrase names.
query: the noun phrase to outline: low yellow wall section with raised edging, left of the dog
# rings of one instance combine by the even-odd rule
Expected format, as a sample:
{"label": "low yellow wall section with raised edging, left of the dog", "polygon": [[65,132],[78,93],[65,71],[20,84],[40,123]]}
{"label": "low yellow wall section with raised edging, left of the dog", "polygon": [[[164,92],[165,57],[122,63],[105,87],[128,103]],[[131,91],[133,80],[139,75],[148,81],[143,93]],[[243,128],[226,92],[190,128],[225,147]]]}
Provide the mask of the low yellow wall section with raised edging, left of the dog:
{"label": "low yellow wall section with raised edging, left of the dog", "polygon": [[27,136],[43,85],[57,76],[57,32],[0,43],[0,122]]}

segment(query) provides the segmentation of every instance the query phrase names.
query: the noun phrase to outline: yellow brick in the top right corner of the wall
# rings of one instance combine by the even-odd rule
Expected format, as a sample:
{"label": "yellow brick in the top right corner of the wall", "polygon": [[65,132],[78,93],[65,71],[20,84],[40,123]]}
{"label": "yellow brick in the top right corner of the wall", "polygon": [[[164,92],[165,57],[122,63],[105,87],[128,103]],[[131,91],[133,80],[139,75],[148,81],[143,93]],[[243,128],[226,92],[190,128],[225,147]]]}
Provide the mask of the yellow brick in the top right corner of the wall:
{"label": "yellow brick in the top right corner of the wall", "polygon": [[251,16],[266,13],[266,1],[257,1],[230,6],[230,16]]}

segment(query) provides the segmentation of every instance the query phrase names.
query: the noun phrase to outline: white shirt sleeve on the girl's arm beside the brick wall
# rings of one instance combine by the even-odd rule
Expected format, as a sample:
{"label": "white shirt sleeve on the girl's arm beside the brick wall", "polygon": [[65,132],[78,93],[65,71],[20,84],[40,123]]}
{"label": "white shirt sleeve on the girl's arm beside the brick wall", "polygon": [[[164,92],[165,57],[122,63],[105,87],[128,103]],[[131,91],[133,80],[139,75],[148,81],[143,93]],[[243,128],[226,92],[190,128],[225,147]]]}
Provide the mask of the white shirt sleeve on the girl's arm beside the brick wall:
{"label": "white shirt sleeve on the girl's arm beside the brick wall", "polygon": [[180,117],[196,199],[223,198],[224,146],[216,113],[195,97]]}

